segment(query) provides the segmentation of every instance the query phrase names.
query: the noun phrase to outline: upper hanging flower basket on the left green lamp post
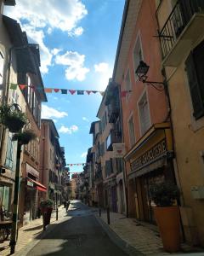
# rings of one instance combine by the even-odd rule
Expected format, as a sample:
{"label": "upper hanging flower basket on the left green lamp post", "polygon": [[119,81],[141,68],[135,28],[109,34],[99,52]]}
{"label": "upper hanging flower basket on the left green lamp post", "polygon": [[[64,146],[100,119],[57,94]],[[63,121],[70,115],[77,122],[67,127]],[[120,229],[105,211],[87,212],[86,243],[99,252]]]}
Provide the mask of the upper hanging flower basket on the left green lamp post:
{"label": "upper hanging flower basket on the left green lamp post", "polygon": [[0,107],[0,122],[8,128],[8,131],[18,132],[26,125],[26,114],[11,107],[9,105]]}

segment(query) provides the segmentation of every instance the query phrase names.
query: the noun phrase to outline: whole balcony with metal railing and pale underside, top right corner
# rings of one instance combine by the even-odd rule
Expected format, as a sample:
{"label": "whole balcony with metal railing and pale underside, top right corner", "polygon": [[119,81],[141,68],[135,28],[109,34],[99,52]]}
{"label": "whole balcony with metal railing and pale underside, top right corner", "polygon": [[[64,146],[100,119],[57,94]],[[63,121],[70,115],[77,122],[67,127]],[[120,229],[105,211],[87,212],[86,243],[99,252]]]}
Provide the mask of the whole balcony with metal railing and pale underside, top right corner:
{"label": "whole balcony with metal railing and pale underside, top right corner", "polygon": [[162,64],[178,67],[204,30],[204,1],[178,0],[161,29]]}

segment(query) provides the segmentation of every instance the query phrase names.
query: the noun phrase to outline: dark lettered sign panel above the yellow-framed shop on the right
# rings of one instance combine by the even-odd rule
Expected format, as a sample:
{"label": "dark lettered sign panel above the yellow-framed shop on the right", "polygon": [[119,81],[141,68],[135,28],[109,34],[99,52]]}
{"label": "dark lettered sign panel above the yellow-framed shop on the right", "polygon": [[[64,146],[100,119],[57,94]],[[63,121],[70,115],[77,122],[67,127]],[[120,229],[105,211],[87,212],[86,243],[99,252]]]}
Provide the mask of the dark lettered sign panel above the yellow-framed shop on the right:
{"label": "dark lettered sign panel above the yellow-framed shop on the right", "polygon": [[167,145],[165,140],[157,143],[153,148],[150,148],[147,152],[140,155],[139,158],[133,161],[131,164],[132,171],[138,170],[142,166],[146,166],[152,160],[156,160],[159,156],[167,152]]}

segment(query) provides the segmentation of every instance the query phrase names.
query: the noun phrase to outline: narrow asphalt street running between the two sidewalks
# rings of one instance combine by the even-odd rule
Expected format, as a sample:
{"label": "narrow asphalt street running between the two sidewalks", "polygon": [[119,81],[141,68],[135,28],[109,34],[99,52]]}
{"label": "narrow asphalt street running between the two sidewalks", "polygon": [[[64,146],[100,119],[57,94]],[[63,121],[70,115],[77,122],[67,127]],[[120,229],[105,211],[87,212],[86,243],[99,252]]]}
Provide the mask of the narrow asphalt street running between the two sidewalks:
{"label": "narrow asphalt street running between the two sidewalks", "polygon": [[105,234],[93,210],[80,201],[71,201],[70,208],[71,218],[58,224],[27,255],[127,255]]}

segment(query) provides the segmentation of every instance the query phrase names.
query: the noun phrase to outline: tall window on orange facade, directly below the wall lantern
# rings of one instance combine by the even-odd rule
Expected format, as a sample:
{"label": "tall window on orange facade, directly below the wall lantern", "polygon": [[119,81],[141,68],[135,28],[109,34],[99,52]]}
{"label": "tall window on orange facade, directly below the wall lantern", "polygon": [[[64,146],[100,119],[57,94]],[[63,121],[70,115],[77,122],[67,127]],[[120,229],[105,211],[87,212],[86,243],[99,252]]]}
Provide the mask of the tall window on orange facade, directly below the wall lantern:
{"label": "tall window on orange facade, directly below the wall lantern", "polygon": [[139,101],[139,118],[141,135],[143,135],[144,132],[150,128],[150,111],[146,93],[144,93],[144,96],[142,96],[141,100]]}

